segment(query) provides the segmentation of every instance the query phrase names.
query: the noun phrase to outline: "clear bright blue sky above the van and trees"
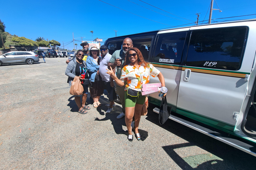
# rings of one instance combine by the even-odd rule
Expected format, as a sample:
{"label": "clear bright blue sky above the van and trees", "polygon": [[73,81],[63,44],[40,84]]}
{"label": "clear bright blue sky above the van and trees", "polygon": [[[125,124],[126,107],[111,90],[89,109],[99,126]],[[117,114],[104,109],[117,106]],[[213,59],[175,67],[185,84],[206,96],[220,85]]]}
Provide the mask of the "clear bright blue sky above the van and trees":
{"label": "clear bright blue sky above the van and trees", "polygon": [[[80,37],[85,37],[83,41],[99,38],[104,42],[107,38],[115,37],[114,30],[117,31],[117,36],[123,36],[174,26],[192,26],[197,20],[196,13],[200,13],[201,24],[200,21],[209,19],[207,10],[211,3],[211,0],[143,0],[150,4],[148,5],[140,0],[102,1],[2,1],[0,19],[6,26],[5,31],[12,35],[32,40],[43,37],[56,40],[61,46],[64,42],[65,49],[73,49],[73,33],[75,43],[80,44]],[[213,8],[219,8],[222,12],[213,10],[212,23],[256,18],[256,15],[251,15],[256,14],[256,1],[253,0],[214,0]],[[251,16],[226,18],[243,15]],[[93,34],[90,31],[93,31]],[[77,46],[78,49],[79,47],[80,45]]]}

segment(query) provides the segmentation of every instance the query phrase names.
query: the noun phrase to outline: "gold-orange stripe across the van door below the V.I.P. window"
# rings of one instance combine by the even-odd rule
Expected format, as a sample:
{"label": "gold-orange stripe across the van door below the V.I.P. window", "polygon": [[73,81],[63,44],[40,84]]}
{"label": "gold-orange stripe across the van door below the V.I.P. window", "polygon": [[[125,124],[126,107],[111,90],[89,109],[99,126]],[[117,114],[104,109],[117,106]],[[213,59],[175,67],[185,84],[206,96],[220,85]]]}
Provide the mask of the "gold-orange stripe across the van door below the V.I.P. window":
{"label": "gold-orange stripe across the van door below the V.I.P. window", "polygon": [[225,70],[222,71],[216,71],[216,70],[206,70],[206,69],[196,69],[191,67],[182,67],[182,70],[190,69],[192,72],[198,72],[198,73],[206,73],[206,74],[215,74],[215,75],[222,75],[222,76],[229,76],[229,77],[238,77],[238,78],[245,78],[244,73],[235,73],[235,72],[227,72]]}

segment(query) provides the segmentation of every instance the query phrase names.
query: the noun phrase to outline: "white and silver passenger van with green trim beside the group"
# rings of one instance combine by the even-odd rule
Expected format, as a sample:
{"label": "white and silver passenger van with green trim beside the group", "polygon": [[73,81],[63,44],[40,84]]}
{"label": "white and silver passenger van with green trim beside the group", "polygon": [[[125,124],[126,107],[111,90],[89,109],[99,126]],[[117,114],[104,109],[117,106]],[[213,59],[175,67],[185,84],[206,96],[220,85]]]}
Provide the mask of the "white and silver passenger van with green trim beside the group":
{"label": "white and silver passenger van with green trim beside the group", "polygon": [[256,156],[256,19],[110,38],[110,54],[127,37],[164,75],[170,119]]}

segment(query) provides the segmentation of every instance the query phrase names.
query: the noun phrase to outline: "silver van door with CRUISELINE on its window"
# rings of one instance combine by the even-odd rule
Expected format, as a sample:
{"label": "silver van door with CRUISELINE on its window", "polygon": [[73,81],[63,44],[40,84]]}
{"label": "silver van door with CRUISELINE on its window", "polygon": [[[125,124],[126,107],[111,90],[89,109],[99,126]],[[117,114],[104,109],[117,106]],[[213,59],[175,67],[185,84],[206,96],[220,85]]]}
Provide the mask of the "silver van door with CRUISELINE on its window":
{"label": "silver van door with CRUISELINE on its window", "polygon": [[[187,29],[188,30],[188,29]],[[168,89],[167,102],[172,105],[175,111],[177,105],[178,89],[181,76],[181,57],[187,32],[163,31],[157,36],[157,43],[154,47],[154,55],[151,60],[164,76],[165,86]],[[150,77],[149,83],[158,83],[157,77]],[[161,98],[158,93],[150,94],[149,101],[160,105]]]}

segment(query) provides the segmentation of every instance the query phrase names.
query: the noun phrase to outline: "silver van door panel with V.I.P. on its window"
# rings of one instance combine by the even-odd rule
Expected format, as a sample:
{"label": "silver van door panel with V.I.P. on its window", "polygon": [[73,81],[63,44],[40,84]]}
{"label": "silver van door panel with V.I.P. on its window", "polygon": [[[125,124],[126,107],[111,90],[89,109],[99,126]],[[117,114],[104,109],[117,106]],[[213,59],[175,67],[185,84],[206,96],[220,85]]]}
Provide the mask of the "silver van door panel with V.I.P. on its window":
{"label": "silver van door panel with V.I.P. on its window", "polygon": [[[233,131],[247,87],[240,71],[246,27],[193,30],[179,84],[177,113]],[[250,68],[249,68],[250,69]]]}

